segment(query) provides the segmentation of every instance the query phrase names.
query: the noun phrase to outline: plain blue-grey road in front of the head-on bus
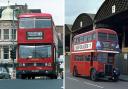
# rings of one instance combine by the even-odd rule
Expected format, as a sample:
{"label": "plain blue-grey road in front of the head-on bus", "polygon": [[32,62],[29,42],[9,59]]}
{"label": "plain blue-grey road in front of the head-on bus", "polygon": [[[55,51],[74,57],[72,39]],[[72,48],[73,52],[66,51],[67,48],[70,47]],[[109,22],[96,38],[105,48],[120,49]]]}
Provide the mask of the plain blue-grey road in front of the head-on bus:
{"label": "plain blue-grey road in front of the head-on bus", "polygon": [[63,89],[62,79],[0,80],[0,89]]}

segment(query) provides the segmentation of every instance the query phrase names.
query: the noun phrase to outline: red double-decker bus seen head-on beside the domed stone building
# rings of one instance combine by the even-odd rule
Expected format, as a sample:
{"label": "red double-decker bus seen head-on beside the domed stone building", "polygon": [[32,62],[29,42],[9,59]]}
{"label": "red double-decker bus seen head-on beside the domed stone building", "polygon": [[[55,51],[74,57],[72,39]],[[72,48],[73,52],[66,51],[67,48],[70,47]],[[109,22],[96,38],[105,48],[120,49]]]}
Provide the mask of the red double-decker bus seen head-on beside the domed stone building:
{"label": "red double-decker bus seen head-on beside the domed stone building", "polygon": [[20,78],[57,78],[58,38],[52,16],[47,13],[19,15],[18,57]]}

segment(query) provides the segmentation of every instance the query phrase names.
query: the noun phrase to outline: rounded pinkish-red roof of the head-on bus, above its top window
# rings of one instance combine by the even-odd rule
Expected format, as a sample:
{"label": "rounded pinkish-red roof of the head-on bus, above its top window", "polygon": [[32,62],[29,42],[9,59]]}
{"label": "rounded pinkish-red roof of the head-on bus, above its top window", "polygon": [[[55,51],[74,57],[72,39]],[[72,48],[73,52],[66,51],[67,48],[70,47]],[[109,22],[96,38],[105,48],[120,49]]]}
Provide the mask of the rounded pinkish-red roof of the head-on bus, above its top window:
{"label": "rounded pinkish-red roof of the head-on bus, above its top window", "polygon": [[24,18],[24,17],[47,17],[47,18],[52,18],[51,14],[48,13],[24,13],[24,14],[20,14],[18,16],[18,18]]}

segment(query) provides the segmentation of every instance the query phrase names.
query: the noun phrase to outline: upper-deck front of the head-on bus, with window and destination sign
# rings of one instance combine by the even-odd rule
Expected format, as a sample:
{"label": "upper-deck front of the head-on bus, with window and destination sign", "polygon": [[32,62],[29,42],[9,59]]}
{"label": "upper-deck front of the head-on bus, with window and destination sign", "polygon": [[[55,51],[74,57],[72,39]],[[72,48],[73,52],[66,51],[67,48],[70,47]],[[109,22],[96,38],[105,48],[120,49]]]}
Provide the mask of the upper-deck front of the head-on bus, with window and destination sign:
{"label": "upper-deck front of the head-on bus, with window and destination sign", "polygon": [[53,23],[48,17],[19,18],[18,43],[52,43]]}

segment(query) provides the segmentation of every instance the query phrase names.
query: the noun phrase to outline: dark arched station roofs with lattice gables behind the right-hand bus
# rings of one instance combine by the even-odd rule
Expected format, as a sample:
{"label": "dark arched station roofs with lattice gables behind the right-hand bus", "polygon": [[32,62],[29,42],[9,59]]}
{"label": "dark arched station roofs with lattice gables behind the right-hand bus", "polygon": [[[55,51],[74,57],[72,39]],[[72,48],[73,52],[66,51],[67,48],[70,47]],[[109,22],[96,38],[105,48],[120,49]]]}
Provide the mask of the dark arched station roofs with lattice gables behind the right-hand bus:
{"label": "dark arched station roofs with lattice gables behind the right-hand bus", "polygon": [[105,0],[96,14],[80,14],[72,25],[71,33],[80,34],[92,30],[93,27],[110,28],[117,32],[122,48],[128,47],[128,41],[125,40],[128,38],[127,24],[128,0]]}

